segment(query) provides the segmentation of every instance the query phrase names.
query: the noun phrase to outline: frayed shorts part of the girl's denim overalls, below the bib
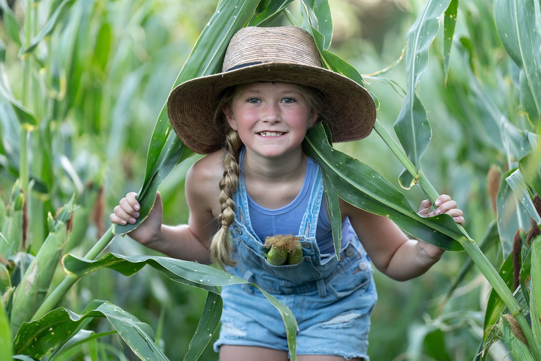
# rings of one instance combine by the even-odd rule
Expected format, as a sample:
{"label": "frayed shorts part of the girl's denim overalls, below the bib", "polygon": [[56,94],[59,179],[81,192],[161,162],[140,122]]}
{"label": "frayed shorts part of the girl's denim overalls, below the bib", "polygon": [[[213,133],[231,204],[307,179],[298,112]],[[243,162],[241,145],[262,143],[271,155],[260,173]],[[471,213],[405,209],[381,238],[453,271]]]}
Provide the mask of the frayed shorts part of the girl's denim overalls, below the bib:
{"label": "frayed shorts part of the girl's denim overalls, below the bib", "polygon": [[[329,256],[336,260],[334,254]],[[299,325],[297,355],[336,355],[367,361],[370,316],[378,296],[370,259],[357,237],[344,247],[338,264],[337,271],[324,280],[323,292],[316,281],[302,292],[262,288],[293,312]],[[260,286],[257,281],[255,284]],[[288,351],[282,317],[259,290],[248,284],[230,285],[222,287],[221,294],[222,327],[214,351],[219,352],[221,345]]]}

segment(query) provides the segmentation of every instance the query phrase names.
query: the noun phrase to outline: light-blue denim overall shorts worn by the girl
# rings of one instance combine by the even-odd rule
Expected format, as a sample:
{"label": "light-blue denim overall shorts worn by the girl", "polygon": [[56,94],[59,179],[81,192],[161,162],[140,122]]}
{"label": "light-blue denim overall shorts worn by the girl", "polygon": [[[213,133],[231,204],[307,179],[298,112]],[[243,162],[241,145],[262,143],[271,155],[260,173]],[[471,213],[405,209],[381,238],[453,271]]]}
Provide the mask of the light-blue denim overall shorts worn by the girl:
{"label": "light-blue denim overall shorts worn by the girl", "polygon": [[[242,156],[240,163],[242,165]],[[241,167],[242,169],[242,167]],[[340,261],[334,252],[320,254],[315,231],[323,196],[318,167],[307,209],[297,237],[301,238],[302,261],[273,266],[263,255],[263,246],[250,225],[244,176],[233,194],[235,221],[232,258],[236,267],[225,271],[255,283],[293,312],[299,332],[297,355],[337,355],[368,360],[370,315],[378,299],[370,258],[357,234],[342,237]],[[223,312],[219,339],[214,350],[227,345],[271,347],[288,351],[286,330],[278,310],[249,284],[222,287]]]}

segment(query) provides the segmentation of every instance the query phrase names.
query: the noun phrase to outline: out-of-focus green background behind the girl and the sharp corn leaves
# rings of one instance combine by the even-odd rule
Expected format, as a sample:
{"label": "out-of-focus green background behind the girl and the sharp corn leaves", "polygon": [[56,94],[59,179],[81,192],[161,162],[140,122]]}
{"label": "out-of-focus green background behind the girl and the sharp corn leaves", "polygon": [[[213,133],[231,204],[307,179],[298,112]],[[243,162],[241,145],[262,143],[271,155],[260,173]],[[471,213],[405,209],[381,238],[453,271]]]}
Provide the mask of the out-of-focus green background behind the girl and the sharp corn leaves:
{"label": "out-of-focus green background behind the girl and the sharp corn leaves", "polygon": [[[36,4],[52,7],[58,1]],[[329,50],[353,64],[361,74],[371,74],[399,58],[407,30],[424,1],[331,0],[329,4],[334,24]],[[12,6],[22,20],[21,4],[15,2]],[[494,218],[486,174],[492,164],[505,168],[506,157],[501,147],[494,146],[490,126],[485,122],[486,109],[479,107],[471,88],[472,76],[499,111],[518,127],[527,127],[524,115],[517,115],[518,95],[512,87],[516,73],[500,44],[491,6],[477,0],[461,2],[447,84],[440,25],[428,69],[417,89],[433,134],[424,156],[424,173],[440,194],[449,194],[458,202],[465,214],[465,228],[476,240],[483,237]],[[36,252],[44,239],[44,215],[50,209],[56,211],[73,193],[78,197],[77,204],[82,205],[79,212],[85,212],[89,221],[88,227],[84,221],[79,224],[84,240],[70,244],[65,251],[83,255],[110,225],[109,214],[118,201],[126,193],[138,191],[156,116],[215,8],[216,0],[78,0],[63,11],[62,22],[47,38],[48,47],[36,49],[37,58],[51,67],[38,71],[39,63],[32,60],[36,65],[32,73],[34,88],[41,87],[53,99],[54,112],[46,115],[42,93],[32,93],[30,103],[37,104],[32,110],[44,120],[39,130],[30,133],[30,173],[51,189],[32,194],[29,212],[35,216],[31,219],[43,219],[43,224],[36,222],[29,228],[30,252]],[[300,18],[298,1],[289,9]],[[45,18],[37,14],[34,21],[41,24]],[[281,25],[289,25],[283,15],[266,26]],[[3,22],[0,38],[6,43],[5,74],[20,99],[22,66],[17,59],[18,47],[8,41]],[[387,77],[405,88],[404,61]],[[378,119],[393,134],[403,96],[386,84],[372,82],[365,86],[378,96]],[[14,167],[18,165],[19,128],[12,108],[3,99],[0,132],[0,186],[6,198],[17,178]],[[401,189],[397,178],[403,166],[375,132],[360,141],[336,144],[335,148],[368,163]],[[165,224],[187,222],[184,177],[198,157],[177,165],[159,188]],[[34,183],[37,188],[39,181]],[[417,186],[404,193],[415,210],[425,199]],[[115,237],[108,251],[157,254],[129,237]],[[493,250],[487,257],[498,268],[499,252]],[[437,310],[466,259],[465,253],[446,252],[426,274],[405,282],[375,272],[379,301],[369,337],[368,355],[372,360],[460,361],[474,357],[490,291],[486,280],[472,270],[453,297]],[[59,268],[51,289],[62,278]],[[180,359],[187,352],[205,297],[205,291],[170,282],[152,268],[133,277],[101,270],[78,281],[63,304],[81,311],[94,298],[110,300],[150,324],[166,355]],[[96,331],[108,330],[107,324],[93,322]],[[216,337],[217,333],[201,359],[217,359],[212,350]],[[111,359],[122,355],[137,359],[119,338],[111,337],[107,343],[111,346],[104,346],[104,350]],[[498,344],[490,352],[489,359],[501,360],[506,355]]]}

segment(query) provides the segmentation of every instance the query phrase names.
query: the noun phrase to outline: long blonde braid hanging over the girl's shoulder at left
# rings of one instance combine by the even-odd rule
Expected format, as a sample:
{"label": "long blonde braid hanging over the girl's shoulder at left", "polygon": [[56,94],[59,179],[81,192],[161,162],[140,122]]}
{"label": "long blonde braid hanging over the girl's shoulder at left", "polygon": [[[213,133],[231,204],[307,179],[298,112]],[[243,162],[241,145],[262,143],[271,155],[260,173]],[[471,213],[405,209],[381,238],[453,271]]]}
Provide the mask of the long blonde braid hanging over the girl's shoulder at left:
{"label": "long blonde braid hanging over the girl's shoulder at left", "polygon": [[221,213],[218,221],[220,230],[216,232],[210,244],[210,257],[220,266],[235,266],[236,261],[231,258],[231,246],[227,237],[229,226],[235,220],[235,202],[233,192],[239,185],[239,150],[241,140],[236,130],[230,129],[226,136],[226,148],[223,155],[223,178],[220,180]]}

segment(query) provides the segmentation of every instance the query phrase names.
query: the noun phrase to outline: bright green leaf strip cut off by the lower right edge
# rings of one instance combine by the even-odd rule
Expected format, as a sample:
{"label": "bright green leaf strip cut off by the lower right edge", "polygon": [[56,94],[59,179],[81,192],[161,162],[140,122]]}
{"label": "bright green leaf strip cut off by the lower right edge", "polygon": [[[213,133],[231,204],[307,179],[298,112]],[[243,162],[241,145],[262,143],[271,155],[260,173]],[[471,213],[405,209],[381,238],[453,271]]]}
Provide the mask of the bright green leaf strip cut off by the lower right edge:
{"label": "bright green leaf strip cut off by the lower right edge", "polygon": [[537,236],[531,244],[531,288],[530,314],[533,339],[541,345],[541,237]]}

